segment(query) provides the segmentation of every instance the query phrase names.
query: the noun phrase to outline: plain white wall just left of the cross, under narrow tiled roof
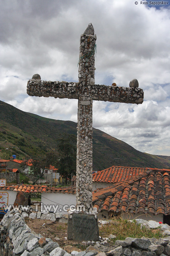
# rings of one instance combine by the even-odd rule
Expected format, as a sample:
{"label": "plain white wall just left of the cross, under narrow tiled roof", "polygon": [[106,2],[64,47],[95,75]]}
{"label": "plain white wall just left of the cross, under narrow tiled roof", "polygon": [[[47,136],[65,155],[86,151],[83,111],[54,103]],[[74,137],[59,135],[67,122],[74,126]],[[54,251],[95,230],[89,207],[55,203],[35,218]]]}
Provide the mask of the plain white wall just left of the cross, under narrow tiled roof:
{"label": "plain white wall just left of the cross, under narrow tiled roof", "polygon": [[[41,203],[43,204],[43,210],[46,210],[47,207],[51,207],[51,208],[48,208],[48,211],[50,212],[55,211],[62,214],[67,214],[68,213],[67,205],[68,206],[76,205],[76,194],[73,195],[73,194],[67,194],[67,193],[64,193],[64,194],[63,193],[42,193]],[[54,205],[56,210],[52,205]]]}

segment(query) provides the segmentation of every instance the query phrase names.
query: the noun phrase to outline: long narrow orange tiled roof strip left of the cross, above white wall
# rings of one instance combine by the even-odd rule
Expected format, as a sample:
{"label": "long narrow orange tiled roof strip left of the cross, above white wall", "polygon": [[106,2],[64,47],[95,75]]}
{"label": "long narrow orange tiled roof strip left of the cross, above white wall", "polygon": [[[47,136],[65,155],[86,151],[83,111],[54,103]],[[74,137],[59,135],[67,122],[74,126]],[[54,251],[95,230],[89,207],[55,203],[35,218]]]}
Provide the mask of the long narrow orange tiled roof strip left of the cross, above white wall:
{"label": "long narrow orange tiled roof strip left of the cross, above white wall", "polygon": [[38,185],[17,185],[17,186],[5,186],[1,187],[0,190],[12,190],[12,191],[22,191],[25,193],[67,193],[76,194],[76,187],[63,187],[63,188],[49,188],[48,186],[38,186]]}

